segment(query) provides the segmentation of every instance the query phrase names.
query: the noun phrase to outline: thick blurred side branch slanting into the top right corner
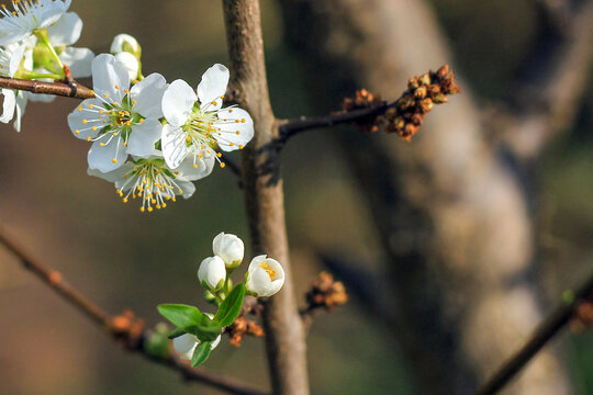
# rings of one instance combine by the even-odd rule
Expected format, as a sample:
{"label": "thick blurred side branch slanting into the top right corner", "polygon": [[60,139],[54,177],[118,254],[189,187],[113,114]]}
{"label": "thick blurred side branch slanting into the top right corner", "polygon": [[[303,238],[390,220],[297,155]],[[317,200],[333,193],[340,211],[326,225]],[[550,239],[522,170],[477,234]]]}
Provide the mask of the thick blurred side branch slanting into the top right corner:
{"label": "thick blurred side branch slanting into the top right corner", "polygon": [[519,158],[536,158],[559,132],[570,128],[585,94],[593,65],[593,1],[583,0],[567,13],[563,31],[544,16],[510,98],[511,119],[502,129]]}

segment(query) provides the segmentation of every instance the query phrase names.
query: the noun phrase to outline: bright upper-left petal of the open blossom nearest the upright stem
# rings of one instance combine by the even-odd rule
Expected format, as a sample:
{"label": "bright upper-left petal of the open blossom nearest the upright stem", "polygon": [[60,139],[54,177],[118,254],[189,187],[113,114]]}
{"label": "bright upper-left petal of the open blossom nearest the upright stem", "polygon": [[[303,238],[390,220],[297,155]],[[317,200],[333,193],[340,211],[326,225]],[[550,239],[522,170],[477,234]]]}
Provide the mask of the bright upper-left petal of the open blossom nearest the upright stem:
{"label": "bright upper-left petal of the open blossom nearest the upright stem", "polygon": [[181,126],[188,121],[197,101],[195,92],[188,82],[175,80],[163,95],[163,114],[171,125]]}

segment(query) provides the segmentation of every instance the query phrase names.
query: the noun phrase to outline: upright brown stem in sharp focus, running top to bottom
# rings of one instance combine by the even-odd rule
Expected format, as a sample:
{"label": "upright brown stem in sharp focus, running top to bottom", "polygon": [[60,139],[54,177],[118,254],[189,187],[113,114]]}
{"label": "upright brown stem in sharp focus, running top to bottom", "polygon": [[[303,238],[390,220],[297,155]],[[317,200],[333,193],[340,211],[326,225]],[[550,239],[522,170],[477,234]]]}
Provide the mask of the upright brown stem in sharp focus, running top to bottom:
{"label": "upright brown stem in sharp focus, running top to bottom", "polygon": [[309,394],[305,339],[294,300],[284,219],[278,124],[266,78],[260,9],[257,0],[223,0],[232,66],[233,98],[255,123],[255,136],[243,149],[243,187],[254,252],[267,253],[284,268],[282,291],[265,304],[266,348],[275,394]]}

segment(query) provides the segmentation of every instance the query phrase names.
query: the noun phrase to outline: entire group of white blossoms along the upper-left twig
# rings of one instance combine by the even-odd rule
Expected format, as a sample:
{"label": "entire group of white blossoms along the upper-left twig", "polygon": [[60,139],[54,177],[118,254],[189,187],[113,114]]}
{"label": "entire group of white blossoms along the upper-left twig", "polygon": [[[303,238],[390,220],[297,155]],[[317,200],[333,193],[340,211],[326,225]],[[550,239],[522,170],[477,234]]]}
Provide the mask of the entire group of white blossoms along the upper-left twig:
{"label": "entire group of white blossoms along the upper-left twig", "polygon": [[[119,34],[111,54],[71,47],[82,21],[67,12],[71,0],[14,0],[0,9],[0,76],[63,81],[92,76],[94,98],[68,115],[68,125],[91,143],[88,173],[115,184],[124,203],[141,201],[142,212],[167,206],[177,196],[190,198],[192,181],[209,176],[221,150],[242,149],[254,136],[249,114],[223,108],[228,69],[214,65],[193,90],[186,81],[170,84],[160,74],[142,72],[142,47]],[[53,95],[2,89],[0,122],[14,120],[20,132],[27,100]]]}

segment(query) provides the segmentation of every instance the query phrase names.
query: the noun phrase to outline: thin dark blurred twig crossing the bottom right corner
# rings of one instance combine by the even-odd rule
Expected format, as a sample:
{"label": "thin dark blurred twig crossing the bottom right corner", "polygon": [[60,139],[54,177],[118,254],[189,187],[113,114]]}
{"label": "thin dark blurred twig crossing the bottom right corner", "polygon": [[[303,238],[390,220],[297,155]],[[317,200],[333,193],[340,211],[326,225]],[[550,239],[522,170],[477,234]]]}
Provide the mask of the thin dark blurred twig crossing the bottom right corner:
{"label": "thin dark blurred twig crossing the bottom right corner", "polygon": [[475,395],[492,395],[503,388],[541,350],[541,348],[573,317],[579,304],[593,293],[593,273],[574,292],[571,303],[559,306],[539,325],[529,340],[486,381]]}

